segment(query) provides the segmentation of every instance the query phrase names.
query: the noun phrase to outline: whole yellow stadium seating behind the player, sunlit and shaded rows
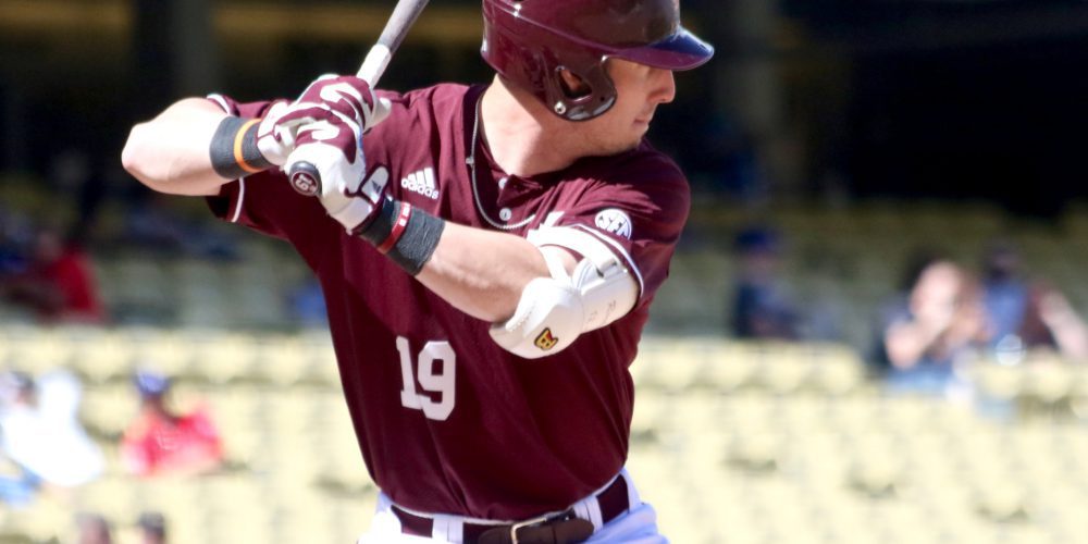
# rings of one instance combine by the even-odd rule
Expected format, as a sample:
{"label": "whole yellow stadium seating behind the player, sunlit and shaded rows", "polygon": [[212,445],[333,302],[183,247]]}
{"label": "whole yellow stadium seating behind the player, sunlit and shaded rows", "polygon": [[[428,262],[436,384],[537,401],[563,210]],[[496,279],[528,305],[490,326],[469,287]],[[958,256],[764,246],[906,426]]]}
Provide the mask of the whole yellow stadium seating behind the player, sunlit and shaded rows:
{"label": "whole yellow stadium seating behind the player, sunlit and shaded rows", "polygon": [[[732,264],[721,233],[758,219],[782,228],[788,280],[840,307],[841,337],[800,344],[722,338]],[[938,242],[977,262],[994,235],[1088,308],[1088,232],[948,205],[756,214],[693,210],[639,360],[630,469],[678,543],[1072,543],[1088,518],[1088,368],[1036,357],[962,369],[954,400],[892,395],[863,354],[908,250]],[[1077,238],[1079,236],[1079,238]],[[252,238],[252,239],[251,239]],[[96,267],[119,323],[40,327],[0,314],[0,369],[65,367],[85,384],[82,419],[107,475],[25,509],[0,506],[0,542],[66,542],[96,510],[135,542],[144,509],[175,543],[351,542],[376,490],[359,458],[327,333],[300,331],[282,296],[306,277],[281,244],[243,237],[242,259],[149,259],[103,251]],[[136,480],[116,441],[137,407],[136,369],[206,403],[226,467],[197,479]]]}

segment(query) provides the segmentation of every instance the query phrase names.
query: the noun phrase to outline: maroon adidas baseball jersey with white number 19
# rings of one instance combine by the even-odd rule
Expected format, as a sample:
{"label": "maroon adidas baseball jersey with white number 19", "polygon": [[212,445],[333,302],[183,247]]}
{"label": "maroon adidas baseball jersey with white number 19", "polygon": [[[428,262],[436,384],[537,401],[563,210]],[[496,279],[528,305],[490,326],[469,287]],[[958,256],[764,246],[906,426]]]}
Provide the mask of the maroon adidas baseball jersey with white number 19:
{"label": "maroon adidas baseball jersey with white number 19", "polygon": [[[473,190],[466,159],[483,90],[383,92],[393,112],[363,138],[367,170],[387,170],[394,198],[462,225],[527,236],[546,221],[605,242],[638,279],[639,302],[558,354],[527,360],[504,350],[491,323],[348,235],[280,171],[230,183],[209,201],[227,221],[286,239],[317,274],[374,482],[410,509],[516,520],[567,508],[622,468],[634,401],[628,367],[690,196],[676,164],[646,143],[527,178],[507,176],[481,140]],[[268,107],[212,98],[243,116]]]}

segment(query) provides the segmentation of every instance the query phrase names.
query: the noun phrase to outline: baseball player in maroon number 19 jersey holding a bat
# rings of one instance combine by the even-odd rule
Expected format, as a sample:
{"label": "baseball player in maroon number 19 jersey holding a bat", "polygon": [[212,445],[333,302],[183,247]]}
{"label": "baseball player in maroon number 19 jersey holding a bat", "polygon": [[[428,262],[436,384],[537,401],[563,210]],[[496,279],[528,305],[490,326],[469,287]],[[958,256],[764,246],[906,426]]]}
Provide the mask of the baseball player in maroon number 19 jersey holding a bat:
{"label": "baseball player in maroon number 19 jersey holding a bat", "polygon": [[360,542],[665,542],[623,470],[628,367],[690,196],[644,135],[713,48],[676,0],[483,16],[490,85],[184,99],[125,168],[313,270],[382,490]]}

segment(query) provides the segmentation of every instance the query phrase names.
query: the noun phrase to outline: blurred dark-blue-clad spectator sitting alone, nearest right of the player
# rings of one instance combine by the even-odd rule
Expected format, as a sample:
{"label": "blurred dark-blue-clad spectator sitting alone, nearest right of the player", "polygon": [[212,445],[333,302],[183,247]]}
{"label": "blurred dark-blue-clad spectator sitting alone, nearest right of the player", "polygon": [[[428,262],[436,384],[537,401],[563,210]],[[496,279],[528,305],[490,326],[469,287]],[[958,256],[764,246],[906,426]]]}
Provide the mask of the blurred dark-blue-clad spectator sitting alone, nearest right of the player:
{"label": "blurred dark-blue-clad spectator sitting alone, nearest right of the player", "polygon": [[740,271],[733,289],[732,324],[738,338],[796,339],[800,318],[779,279],[780,240],[769,228],[738,234]]}

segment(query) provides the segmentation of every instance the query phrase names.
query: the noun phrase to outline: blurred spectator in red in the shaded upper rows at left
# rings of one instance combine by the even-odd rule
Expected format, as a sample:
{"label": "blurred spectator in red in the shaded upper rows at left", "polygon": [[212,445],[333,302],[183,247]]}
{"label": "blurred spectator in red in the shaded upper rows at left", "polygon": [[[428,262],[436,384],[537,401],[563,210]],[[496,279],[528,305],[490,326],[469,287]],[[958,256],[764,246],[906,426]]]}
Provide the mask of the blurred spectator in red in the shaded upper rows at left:
{"label": "blurred spectator in red in the shaded upper rows at left", "polygon": [[24,272],[0,280],[0,298],[33,310],[45,322],[106,320],[87,255],[52,228],[36,234]]}

